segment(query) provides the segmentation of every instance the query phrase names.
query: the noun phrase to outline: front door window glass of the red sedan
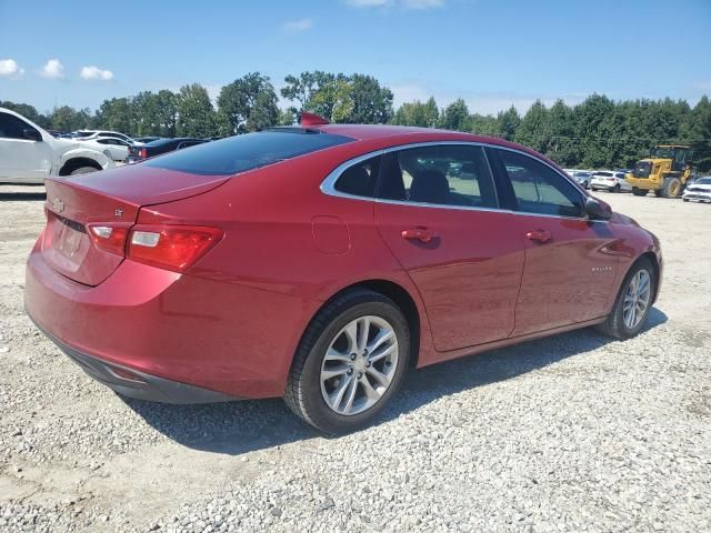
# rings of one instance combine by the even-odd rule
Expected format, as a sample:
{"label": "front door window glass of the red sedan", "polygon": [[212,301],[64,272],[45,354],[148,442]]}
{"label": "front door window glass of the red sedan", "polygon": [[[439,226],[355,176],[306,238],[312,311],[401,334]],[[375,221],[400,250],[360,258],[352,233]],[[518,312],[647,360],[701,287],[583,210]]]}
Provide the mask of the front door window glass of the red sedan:
{"label": "front door window glass of the red sedan", "polygon": [[499,150],[519,210],[528,213],[582,217],[581,193],[553,169],[522,153]]}

